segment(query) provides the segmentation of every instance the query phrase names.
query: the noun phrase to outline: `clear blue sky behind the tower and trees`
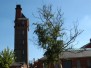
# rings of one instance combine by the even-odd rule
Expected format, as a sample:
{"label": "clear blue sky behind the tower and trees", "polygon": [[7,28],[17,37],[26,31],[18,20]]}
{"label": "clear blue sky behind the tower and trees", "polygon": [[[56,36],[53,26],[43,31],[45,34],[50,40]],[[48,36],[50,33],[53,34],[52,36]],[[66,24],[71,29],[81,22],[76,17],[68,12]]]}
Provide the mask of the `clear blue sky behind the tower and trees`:
{"label": "clear blue sky behind the tower and trees", "polygon": [[38,8],[42,5],[52,4],[54,11],[61,8],[65,27],[72,27],[74,22],[79,23],[79,29],[84,30],[76,39],[78,43],[75,48],[80,48],[89,43],[91,38],[91,0],[0,0],[0,51],[9,47],[14,49],[14,19],[15,7],[20,4],[23,14],[29,18],[28,51],[29,60],[36,60],[43,57],[44,51],[34,43],[33,23],[38,20],[33,16],[37,15]]}

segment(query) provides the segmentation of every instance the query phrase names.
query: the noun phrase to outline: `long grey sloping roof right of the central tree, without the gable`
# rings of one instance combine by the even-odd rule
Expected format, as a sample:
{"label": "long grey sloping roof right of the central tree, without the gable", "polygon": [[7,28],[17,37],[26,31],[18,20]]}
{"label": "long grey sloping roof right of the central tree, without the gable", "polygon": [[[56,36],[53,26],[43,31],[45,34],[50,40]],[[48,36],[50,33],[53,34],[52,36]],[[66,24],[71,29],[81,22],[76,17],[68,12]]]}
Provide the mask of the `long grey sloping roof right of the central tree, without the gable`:
{"label": "long grey sloping roof right of the central tree, without the gable", "polygon": [[62,53],[60,58],[82,58],[82,57],[91,57],[91,49],[89,50],[74,50],[74,51],[65,51]]}

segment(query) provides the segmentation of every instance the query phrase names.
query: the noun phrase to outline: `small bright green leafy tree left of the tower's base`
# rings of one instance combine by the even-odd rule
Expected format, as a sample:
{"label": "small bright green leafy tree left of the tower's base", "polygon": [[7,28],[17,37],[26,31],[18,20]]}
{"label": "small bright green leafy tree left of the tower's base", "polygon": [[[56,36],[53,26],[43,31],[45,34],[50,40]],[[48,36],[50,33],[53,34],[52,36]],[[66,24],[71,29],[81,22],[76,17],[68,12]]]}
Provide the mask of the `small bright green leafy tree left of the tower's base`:
{"label": "small bright green leafy tree left of the tower's base", "polygon": [[0,52],[0,67],[10,68],[10,65],[14,62],[14,52],[9,48],[4,49]]}

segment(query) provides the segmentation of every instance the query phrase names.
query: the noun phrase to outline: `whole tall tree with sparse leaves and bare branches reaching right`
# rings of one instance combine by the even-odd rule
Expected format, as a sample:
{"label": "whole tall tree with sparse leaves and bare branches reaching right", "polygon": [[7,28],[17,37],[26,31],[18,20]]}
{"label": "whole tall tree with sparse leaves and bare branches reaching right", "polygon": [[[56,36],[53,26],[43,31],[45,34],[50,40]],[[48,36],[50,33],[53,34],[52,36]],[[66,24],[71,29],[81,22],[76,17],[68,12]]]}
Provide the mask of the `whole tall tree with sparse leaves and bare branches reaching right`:
{"label": "whole tall tree with sparse leaves and bare branches reaching right", "polygon": [[[66,36],[65,29],[63,28],[63,18],[61,10],[57,13],[53,13],[51,6],[43,5],[39,9],[39,23],[34,23],[36,29],[34,33],[38,37],[38,46],[45,50],[44,56],[47,57],[47,63],[50,65],[60,63],[60,55],[67,50],[69,45],[72,44],[76,37],[81,33],[75,25],[73,29],[70,29],[69,39]],[[61,65],[59,65],[61,68]]]}

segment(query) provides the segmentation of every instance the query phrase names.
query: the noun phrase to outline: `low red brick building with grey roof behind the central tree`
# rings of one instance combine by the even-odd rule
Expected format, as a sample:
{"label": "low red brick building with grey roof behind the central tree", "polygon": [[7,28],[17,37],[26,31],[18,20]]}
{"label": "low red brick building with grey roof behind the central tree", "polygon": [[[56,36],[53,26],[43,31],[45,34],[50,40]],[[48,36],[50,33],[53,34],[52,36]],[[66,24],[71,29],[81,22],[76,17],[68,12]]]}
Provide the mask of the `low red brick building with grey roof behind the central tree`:
{"label": "low red brick building with grey roof behind the central tree", "polygon": [[[45,57],[34,62],[34,67],[45,68]],[[91,40],[79,50],[64,51],[60,56],[63,68],[91,68]],[[40,67],[39,67],[40,66]],[[53,65],[52,65],[53,66]],[[58,68],[57,65],[51,68]]]}

